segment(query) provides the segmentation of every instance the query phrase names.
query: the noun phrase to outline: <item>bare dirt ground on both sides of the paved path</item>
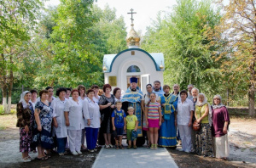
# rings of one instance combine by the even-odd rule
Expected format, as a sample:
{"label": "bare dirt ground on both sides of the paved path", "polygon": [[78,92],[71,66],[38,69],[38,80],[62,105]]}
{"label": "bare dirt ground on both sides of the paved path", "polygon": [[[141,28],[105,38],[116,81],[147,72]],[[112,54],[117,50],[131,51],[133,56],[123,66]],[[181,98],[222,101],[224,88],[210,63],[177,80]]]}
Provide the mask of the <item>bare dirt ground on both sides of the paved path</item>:
{"label": "bare dirt ground on both sides of the paved path", "polygon": [[[0,123],[3,120],[0,115]],[[230,157],[226,161],[204,158],[173,149],[168,149],[168,151],[178,167],[256,167],[255,128],[255,118],[231,118],[229,131]],[[79,156],[53,154],[49,160],[32,160],[32,162],[21,163],[18,128],[15,125],[10,125],[7,129],[0,130],[0,167],[91,167],[98,152],[91,154],[83,151],[83,154]],[[37,154],[30,155],[32,158],[37,157]]]}

